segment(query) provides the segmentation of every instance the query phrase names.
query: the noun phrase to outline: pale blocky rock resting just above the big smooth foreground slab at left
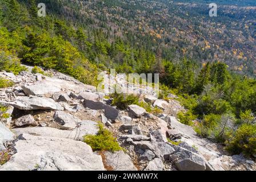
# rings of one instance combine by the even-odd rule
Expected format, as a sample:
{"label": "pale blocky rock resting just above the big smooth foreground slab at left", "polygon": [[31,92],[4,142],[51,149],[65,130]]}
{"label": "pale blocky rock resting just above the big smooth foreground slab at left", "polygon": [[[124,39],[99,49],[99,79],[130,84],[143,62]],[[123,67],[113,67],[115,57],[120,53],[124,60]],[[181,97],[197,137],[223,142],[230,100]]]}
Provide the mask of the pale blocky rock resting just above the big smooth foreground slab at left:
{"label": "pale blocky rock resting just above the big smooth foreground slab at left", "polygon": [[61,123],[62,129],[72,130],[78,126],[78,123],[81,122],[80,119],[75,118],[73,115],[66,113],[65,111],[56,111],[54,114],[55,121]]}

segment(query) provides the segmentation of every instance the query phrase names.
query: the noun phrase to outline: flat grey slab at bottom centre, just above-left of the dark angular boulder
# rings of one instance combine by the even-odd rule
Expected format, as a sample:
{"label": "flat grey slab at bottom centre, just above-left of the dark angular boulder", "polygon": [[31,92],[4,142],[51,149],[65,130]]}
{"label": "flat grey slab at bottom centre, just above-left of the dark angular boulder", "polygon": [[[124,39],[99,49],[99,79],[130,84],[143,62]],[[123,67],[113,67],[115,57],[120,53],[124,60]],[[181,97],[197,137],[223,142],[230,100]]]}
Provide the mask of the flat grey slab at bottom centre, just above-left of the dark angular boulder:
{"label": "flat grey slab at bottom centre, just above-left of the dark angular boulder", "polygon": [[133,142],[134,146],[141,150],[151,150],[155,156],[161,159],[168,159],[170,154],[175,152],[174,148],[170,144],[165,142]]}

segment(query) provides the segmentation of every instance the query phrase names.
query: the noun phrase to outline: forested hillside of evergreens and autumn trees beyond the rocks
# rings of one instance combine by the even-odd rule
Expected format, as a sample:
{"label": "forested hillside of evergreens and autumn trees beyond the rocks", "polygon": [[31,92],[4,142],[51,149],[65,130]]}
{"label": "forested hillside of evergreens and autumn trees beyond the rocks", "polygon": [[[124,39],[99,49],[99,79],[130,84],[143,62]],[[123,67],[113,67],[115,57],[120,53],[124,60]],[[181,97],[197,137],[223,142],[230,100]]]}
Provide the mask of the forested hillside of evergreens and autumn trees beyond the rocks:
{"label": "forested hillside of evergreens and autumn trees beyond the rocks", "polygon": [[254,155],[256,7],[230,2],[210,18],[204,2],[0,0],[0,69],[19,73],[22,61],[92,85],[109,68],[159,73],[161,98],[188,109],[181,122],[198,118],[199,135]]}

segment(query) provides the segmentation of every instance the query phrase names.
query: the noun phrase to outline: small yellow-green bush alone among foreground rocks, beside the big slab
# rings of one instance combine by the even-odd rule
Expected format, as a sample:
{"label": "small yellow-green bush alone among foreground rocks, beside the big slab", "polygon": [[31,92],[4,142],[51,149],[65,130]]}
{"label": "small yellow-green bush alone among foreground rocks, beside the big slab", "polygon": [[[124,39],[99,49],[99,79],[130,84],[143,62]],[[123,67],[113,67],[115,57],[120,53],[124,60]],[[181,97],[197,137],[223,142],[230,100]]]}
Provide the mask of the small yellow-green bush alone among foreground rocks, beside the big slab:
{"label": "small yellow-green bush alone among foreground rocks, beside the big slab", "polygon": [[98,124],[99,131],[97,135],[86,135],[83,137],[83,142],[89,144],[93,151],[119,151],[122,148],[119,146],[117,139],[113,134],[104,129],[102,123]]}

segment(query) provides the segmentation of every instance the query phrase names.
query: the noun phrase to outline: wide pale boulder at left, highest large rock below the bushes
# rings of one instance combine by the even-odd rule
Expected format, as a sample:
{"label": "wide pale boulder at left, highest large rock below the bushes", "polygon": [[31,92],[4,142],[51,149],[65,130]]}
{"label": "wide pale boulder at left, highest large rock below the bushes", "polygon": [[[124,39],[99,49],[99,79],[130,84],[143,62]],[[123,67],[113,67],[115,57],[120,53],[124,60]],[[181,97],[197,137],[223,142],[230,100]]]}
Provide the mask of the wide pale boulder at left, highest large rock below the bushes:
{"label": "wide pale boulder at left, highest large rock below the bushes", "polygon": [[34,85],[22,85],[23,92],[27,96],[38,96],[38,95],[45,95],[49,93],[57,93],[61,92],[61,89],[50,84],[45,84],[44,82],[39,82],[38,84]]}

